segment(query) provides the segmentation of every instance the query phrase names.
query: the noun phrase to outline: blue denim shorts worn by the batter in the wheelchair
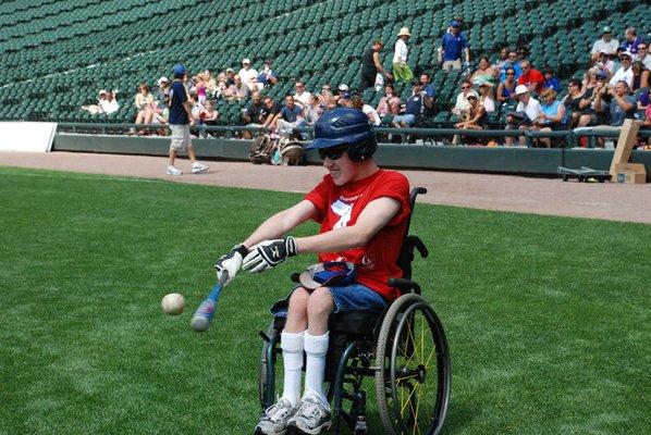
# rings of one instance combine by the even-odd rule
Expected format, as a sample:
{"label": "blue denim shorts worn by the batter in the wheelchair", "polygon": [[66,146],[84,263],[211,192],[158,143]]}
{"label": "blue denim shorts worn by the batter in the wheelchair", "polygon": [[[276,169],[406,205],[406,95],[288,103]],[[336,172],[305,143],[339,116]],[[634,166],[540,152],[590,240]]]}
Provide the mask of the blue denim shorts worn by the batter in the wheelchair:
{"label": "blue denim shorts worn by the batter in the wheelchair", "polygon": [[[290,298],[296,288],[287,295],[286,298],[279,300],[271,307],[271,314],[275,318],[286,318],[287,309],[290,308]],[[330,295],[334,300],[334,311],[382,311],[386,308],[386,301],[379,293],[371,290],[367,286],[353,283],[343,287],[328,287]],[[308,290],[309,291],[309,290]]]}

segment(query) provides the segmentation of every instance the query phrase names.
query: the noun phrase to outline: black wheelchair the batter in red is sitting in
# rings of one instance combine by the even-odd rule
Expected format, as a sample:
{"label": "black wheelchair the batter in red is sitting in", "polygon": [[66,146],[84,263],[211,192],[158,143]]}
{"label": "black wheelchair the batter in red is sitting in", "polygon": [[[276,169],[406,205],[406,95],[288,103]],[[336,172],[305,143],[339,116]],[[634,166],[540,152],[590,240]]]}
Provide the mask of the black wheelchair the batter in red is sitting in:
{"label": "black wheelchair the batter in red is sitting in", "polygon": [[[416,197],[427,189],[416,187],[409,195],[412,212]],[[443,325],[412,281],[412,261],[417,250],[428,256],[423,243],[409,235],[408,217],[398,265],[402,278],[390,278],[401,295],[383,312],[353,311],[330,316],[330,344],[326,383],[331,402],[332,426],[340,434],[345,424],[354,434],[439,434],[450,401],[452,369]],[[292,275],[297,282],[298,274]],[[280,334],[284,318],[277,318],[263,339],[258,366],[261,409],[275,402]],[[366,377],[374,380],[374,395],[383,431],[367,421]],[[342,424],[343,423],[343,424]]]}

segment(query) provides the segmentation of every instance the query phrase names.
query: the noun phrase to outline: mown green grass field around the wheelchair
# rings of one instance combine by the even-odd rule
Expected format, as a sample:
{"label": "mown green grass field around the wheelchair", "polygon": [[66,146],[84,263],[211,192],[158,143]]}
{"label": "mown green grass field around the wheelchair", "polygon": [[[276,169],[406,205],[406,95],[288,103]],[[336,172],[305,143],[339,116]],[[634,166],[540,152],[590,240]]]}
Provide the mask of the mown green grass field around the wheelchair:
{"label": "mown green grass field around the wheelchair", "polygon": [[[241,274],[206,334],[189,316],[214,260],[299,198],[0,167],[0,434],[250,433],[257,331],[314,258]],[[414,277],[452,352],[446,433],[647,433],[649,225],[416,210],[432,254]]]}

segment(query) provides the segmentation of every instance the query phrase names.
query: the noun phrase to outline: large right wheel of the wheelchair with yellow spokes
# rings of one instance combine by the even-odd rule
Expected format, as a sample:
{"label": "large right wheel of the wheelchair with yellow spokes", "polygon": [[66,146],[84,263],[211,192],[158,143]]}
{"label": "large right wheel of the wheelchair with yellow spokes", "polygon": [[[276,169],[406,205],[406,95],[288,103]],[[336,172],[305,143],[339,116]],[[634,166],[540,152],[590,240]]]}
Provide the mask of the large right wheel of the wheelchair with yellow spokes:
{"label": "large right wheel of the wheelchair with yellow spokes", "polygon": [[409,294],[391,304],[376,358],[376,393],[385,433],[439,434],[452,369],[443,326],[425,299]]}

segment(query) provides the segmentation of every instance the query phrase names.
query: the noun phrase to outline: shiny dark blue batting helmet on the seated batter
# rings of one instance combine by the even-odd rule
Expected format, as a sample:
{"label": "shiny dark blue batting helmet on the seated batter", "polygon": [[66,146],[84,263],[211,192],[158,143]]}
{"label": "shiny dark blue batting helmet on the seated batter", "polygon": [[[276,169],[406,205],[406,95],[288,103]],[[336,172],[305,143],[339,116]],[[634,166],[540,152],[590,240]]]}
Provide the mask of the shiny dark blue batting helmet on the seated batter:
{"label": "shiny dark blue batting helmet on the seated batter", "polygon": [[368,159],[378,149],[376,133],[368,116],[360,110],[337,108],[321,115],[315,124],[315,140],[306,149],[348,145],[351,160]]}

